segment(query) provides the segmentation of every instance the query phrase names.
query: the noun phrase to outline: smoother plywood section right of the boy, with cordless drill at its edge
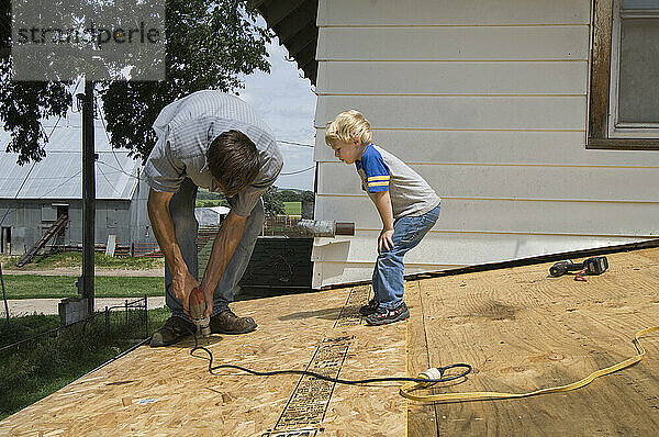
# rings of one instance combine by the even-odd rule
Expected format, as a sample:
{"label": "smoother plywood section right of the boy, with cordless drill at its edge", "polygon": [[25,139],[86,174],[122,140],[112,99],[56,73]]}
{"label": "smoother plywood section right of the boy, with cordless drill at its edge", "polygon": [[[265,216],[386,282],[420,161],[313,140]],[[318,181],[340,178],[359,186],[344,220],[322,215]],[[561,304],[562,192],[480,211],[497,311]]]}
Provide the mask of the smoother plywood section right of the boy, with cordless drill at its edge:
{"label": "smoother plywood section right of the boy, with cordless drill at its edge", "polygon": [[[421,281],[429,362],[474,367],[445,391],[533,391],[635,355],[634,334],[659,325],[657,254],[610,255],[611,270],[588,282],[550,278],[547,264]],[[654,435],[659,338],[643,343],[641,363],[579,391],[438,404],[438,435]]]}

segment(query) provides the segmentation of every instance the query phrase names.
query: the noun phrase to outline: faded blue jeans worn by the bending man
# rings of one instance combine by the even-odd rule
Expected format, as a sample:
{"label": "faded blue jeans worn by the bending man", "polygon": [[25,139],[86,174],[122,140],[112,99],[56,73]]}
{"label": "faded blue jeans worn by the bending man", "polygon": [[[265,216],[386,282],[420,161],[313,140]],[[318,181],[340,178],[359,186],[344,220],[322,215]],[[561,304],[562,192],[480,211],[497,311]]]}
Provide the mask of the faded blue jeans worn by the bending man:
{"label": "faded blue jeans worn by the bending man", "polygon": [[[189,178],[186,178],[180,190],[174,194],[169,202],[169,212],[171,214],[171,221],[174,222],[176,240],[179,244],[188,270],[190,271],[190,274],[198,280],[201,280],[201,278],[199,278],[199,261],[197,259],[196,245],[197,229],[199,227],[197,218],[194,217],[196,200],[197,186]],[[227,200],[231,205],[234,203],[232,198],[227,198]],[[215,288],[212,315],[228,309],[230,302],[233,302],[234,293],[238,289],[237,283],[247,269],[252,251],[256,245],[256,238],[263,229],[264,216],[264,204],[263,201],[259,200],[252,211],[252,214],[247,217],[243,237],[238,242],[234,255],[226,265],[224,273],[217,283],[217,288]],[[181,301],[175,296],[171,291],[171,272],[169,271],[169,266],[167,266],[167,264],[165,264],[165,302],[171,310],[171,314],[190,321],[190,317],[183,312]]]}

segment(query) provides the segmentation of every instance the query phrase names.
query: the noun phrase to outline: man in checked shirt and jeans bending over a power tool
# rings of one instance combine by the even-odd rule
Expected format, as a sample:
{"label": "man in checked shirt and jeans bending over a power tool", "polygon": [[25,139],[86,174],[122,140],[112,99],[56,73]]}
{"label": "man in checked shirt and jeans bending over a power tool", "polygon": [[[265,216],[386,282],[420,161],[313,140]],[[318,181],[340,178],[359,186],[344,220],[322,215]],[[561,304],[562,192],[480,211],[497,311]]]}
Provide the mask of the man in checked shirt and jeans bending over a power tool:
{"label": "man in checked shirt and jeans bending over a power tool", "polygon": [[[150,345],[171,345],[194,332],[186,313],[196,287],[204,294],[212,333],[252,332],[254,320],[236,316],[228,304],[263,228],[261,194],[281,171],[277,142],[245,102],[212,90],[168,104],[153,127],[158,141],[144,172],[150,186],[148,215],[165,254],[165,302],[171,317]],[[194,244],[198,187],[224,192],[231,205],[201,283]]]}

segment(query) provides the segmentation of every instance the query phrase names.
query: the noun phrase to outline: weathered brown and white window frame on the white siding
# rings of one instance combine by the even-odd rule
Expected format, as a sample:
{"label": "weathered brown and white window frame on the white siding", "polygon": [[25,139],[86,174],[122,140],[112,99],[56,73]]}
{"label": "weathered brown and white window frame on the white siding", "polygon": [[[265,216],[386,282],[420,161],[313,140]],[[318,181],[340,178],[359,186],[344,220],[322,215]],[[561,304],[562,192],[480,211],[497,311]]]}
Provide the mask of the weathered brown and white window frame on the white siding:
{"label": "weathered brown and white window frame on the white siding", "polygon": [[585,148],[659,150],[659,125],[616,126],[621,0],[593,0]]}

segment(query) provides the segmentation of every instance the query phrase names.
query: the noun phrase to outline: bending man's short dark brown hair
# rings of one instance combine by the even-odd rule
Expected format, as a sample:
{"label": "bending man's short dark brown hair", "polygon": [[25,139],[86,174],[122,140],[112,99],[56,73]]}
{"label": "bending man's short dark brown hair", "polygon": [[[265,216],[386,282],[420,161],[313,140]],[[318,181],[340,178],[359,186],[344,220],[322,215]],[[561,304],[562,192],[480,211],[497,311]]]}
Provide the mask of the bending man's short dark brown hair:
{"label": "bending man's short dark brown hair", "polygon": [[250,184],[258,175],[258,150],[239,131],[217,135],[206,152],[211,175],[227,195],[235,195]]}

